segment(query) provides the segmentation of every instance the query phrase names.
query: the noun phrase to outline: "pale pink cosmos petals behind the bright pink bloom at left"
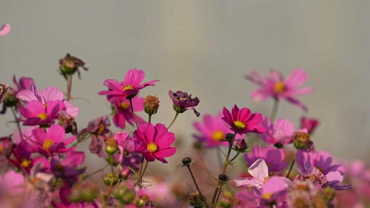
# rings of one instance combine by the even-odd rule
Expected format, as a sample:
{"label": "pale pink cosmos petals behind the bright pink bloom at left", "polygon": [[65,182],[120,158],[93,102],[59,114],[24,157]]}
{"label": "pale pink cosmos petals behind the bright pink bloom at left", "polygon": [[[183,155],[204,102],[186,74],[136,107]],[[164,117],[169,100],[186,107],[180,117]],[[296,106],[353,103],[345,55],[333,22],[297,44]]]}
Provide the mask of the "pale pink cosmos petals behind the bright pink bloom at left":
{"label": "pale pink cosmos petals behind the bright pink bloom at left", "polygon": [[[30,85],[29,90],[22,90],[17,94],[17,98],[26,103],[30,101],[39,101],[46,106],[47,101],[63,101],[63,93],[56,87],[47,87],[42,92],[36,85]],[[74,107],[70,102],[64,100],[65,112],[72,117],[77,117],[78,108]]]}

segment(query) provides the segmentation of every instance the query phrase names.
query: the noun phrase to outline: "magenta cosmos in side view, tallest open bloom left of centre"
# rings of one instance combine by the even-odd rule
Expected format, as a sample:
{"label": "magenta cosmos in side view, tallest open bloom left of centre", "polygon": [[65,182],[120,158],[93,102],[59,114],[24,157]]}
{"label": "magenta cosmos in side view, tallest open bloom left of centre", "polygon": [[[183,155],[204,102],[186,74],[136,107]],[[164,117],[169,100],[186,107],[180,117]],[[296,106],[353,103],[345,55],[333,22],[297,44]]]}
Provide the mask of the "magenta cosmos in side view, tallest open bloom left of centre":
{"label": "magenta cosmos in side view, tallest open bloom left of centre", "polygon": [[[125,98],[132,98],[144,87],[155,86],[154,83],[159,80],[152,80],[144,84],[140,84],[145,77],[145,73],[142,70],[137,70],[136,68],[128,70],[125,75],[125,80],[118,82],[117,80],[107,79],[104,81],[104,85],[109,88],[109,90],[103,90],[98,93],[98,95],[107,95],[108,101],[113,103],[121,101]],[[142,105],[142,104],[141,104]]]}

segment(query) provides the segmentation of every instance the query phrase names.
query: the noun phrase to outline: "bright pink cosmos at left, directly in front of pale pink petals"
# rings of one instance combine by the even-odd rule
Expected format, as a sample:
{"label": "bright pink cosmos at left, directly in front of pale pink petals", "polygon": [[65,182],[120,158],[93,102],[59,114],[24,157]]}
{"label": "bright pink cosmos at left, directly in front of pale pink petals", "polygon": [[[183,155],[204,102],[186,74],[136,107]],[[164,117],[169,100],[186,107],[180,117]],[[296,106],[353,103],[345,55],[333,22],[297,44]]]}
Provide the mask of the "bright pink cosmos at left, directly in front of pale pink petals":
{"label": "bright pink cosmos at left, directly in front of pale pink petals", "polygon": [[58,112],[61,110],[65,110],[62,101],[47,101],[46,104],[40,101],[30,101],[26,107],[19,108],[19,113],[26,118],[26,120],[21,120],[23,125],[50,125],[58,118]]}

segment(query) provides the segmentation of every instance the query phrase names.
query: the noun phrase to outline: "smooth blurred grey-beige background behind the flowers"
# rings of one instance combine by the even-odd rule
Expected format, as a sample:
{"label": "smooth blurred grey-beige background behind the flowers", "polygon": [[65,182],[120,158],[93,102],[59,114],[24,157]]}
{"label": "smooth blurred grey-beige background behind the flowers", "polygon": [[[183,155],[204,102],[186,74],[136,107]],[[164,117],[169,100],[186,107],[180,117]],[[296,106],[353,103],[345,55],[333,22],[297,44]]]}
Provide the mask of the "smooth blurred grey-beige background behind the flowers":
{"label": "smooth blurred grey-beige background behind the flowers", "polygon": [[[318,150],[336,157],[367,159],[370,145],[369,40],[370,1],[10,1],[0,3],[0,24],[11,32],[0,38],[1,83],[13,74],[33,77],[43,89],[66,91],[58,72],[58,59],[71,53],[85,61],[89,71],[73,78],[71,101],[80,108],[79,129],[89,120],[110,113],[98,91],[107,78],[123,80],[127,70],[145,71],[145,80],[158,79],[141,96],[157,95],[158,114],[152,122],[168,125],[175,114],[167,90],[187,91],[201,103],[202,115],[216,114],[234,104],[270,115],[272,99],[255,103],[256,86],[243,76],[250,70],[267,74],[274,67],[287,76],[293,68],[309,74],[306,86],[314,93],[301,97],[307,116],[319,118],[314,135]],[[285,101],[277,118],[296,127],[304,112]],[[147,118],[144,113],[140,113]],[[201,116],[202,116],[201,115]],[[7,135],[15,125],[9,112],[1,116],[0,130]],[[201,121],[192,111],[179,115],[171,130],[181,143],[169,164],[175,168],[189,154],[194,141],[192,123]],[[87,150],[84,143],[80,150]],[[86,159],[101,167],[95,155]]]}

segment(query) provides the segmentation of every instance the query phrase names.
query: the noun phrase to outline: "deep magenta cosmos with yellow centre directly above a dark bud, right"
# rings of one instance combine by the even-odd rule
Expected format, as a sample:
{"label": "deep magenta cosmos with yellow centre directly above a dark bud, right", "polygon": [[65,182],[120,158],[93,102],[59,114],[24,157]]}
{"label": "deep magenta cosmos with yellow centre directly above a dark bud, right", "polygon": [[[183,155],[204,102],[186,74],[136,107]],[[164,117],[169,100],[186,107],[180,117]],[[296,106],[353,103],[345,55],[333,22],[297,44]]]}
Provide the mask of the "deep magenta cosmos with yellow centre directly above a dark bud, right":
{"label": "deep magenta cosmos with yellow centre directly above a dark bud, right", "polygon": [[260,113],[250,113],[248,108],[239,108],[234,105],[230,113],[226,107],[223,107],[223,116],[222,120],[230,126],[232,131],[237,132],[238,134],[246,134],[248,132],[253,132],[256,134],[263,134],[266,132],[266,127],[260,125],[263,117]]}

